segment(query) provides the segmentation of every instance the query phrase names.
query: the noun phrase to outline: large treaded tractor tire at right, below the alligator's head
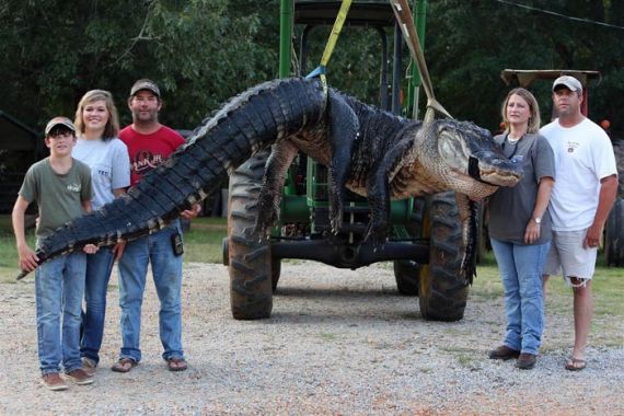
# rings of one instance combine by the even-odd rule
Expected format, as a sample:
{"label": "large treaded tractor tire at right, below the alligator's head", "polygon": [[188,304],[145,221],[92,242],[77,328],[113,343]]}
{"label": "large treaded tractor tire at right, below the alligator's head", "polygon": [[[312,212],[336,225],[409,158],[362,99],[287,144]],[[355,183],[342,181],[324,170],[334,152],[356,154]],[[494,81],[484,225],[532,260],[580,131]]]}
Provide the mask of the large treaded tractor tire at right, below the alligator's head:
{"label": "large treaded tractor tire at right, below the alligator's head", "polygon": [[429,264],[420,267],[420,314],[428,321],[459,321],[469,288],[460,274],[462,230],[454,193],[427,198],[421,235],[429,238]]}

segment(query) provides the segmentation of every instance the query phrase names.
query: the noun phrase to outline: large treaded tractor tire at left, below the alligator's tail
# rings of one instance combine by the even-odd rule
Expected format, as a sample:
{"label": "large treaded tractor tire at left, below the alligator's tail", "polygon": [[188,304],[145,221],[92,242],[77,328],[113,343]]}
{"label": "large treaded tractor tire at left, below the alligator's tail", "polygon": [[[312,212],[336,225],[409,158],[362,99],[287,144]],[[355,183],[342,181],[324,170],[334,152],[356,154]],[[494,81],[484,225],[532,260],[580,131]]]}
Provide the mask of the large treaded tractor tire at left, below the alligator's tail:
{"label": "large treaded tractor tire at left, below the alligator's tail", "polygon": [[253,233],[267,158],[267,151],[257,153],[230,176],[228,256],[235,320],[269,317],[273,309],[270,242]]}

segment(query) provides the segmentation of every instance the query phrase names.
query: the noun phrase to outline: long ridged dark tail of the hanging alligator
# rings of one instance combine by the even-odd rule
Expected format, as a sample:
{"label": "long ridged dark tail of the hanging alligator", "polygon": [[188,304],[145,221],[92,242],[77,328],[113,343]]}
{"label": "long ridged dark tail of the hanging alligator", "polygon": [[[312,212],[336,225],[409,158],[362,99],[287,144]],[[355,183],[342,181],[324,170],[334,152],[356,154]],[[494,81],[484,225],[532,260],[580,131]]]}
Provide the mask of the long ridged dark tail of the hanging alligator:
{"label": "long ridged dark tail of the hanging alligator", "polygon": [[45,239],[37,250],[39,263],[86,244],[114,245],[162,229],[252,154],[315,125],[324,113],[317,81],[274,80],[232,97],[126,195]]}

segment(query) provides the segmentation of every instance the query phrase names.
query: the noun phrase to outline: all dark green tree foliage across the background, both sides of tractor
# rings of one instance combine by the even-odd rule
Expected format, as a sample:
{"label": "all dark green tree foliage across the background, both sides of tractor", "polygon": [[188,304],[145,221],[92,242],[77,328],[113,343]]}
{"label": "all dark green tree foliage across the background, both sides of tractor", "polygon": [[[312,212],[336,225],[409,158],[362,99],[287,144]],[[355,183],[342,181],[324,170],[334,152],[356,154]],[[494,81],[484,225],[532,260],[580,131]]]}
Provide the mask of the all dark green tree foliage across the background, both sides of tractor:
{"label": "all dark green tree foliage across the background, both sides of tractor", "polygon": [[[609,117],[614,129],[623,129],[624,31],[589,22],[624,26],[623,1],[428,3],[426,59],[438,100],[455,117],[495,129],[509,90],[500,80],[505,68],[591,69],[602,79],[590,85],[590,117]],[[311,33],[302,74],[319,63],[328,32]],[[54,115],[71,116],[80,96],[94,88],[113,92],[128,123],[129,86],[152,78],[163,91],[162,120],[192,128],[223,100],[277,77],[279,1],[4,0],[0,38],[0,109],[26,125],[41,128]],[[345,31],[330,83],[378,104],[380,49],[374,30]],[[547,119],[550,85],[532,90]]]}

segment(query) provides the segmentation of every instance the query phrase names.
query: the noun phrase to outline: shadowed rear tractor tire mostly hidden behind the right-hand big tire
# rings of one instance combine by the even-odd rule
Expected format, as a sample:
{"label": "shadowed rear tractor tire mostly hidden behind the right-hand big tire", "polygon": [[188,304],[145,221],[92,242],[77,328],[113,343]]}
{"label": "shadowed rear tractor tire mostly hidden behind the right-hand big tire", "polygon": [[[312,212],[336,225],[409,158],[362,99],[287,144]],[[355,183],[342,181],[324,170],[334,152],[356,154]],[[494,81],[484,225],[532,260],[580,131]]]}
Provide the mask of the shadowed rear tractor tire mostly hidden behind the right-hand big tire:
{"label": "shadowed rear tractor tire mostly hidden behind the right-hand big tire", "polygon": [[[425,198],[414,198],[413,215],[406,231],[409,236],[419,239],[423,224],[423,212],[425,210]],[[394,279],[398,293],[404,296],[418,296],[420,279],[420,265],[409,259],[394,261]]]}

